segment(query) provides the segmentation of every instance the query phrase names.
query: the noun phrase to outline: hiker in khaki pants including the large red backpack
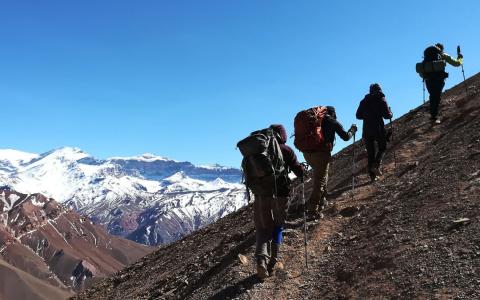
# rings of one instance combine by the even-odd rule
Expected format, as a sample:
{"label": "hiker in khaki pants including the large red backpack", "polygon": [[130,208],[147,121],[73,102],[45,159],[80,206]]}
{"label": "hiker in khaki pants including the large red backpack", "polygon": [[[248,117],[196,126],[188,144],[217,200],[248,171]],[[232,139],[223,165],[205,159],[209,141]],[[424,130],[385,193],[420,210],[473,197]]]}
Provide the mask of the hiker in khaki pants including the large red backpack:
{"label": "hiker in khaki pants including the large red backpack", "polygon": [[320,211],[327,205],[328,169],[335,134],[348,141],[357,132],[352,124],[348,131],[337,121],[333,106],[318,106],[299,112],[295,116],[295,147],[303,153],[313,169],[313,190],[306,203],[309,218],[320,218]]}

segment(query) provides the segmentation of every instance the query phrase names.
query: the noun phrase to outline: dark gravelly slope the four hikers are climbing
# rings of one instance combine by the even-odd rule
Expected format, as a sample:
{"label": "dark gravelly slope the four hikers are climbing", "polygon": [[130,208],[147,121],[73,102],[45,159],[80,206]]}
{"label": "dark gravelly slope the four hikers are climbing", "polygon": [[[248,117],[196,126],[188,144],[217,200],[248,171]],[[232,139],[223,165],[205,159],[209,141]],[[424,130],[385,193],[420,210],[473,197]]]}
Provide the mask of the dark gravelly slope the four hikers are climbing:
{"label": "dark gravelly slope the four hikers are climbing", "polygon": [[433,125],[424,106],[394,122],[379,182],[365,174],[361,142],[335,155],[332,203],[320,221],[307,224],[308,268],[297,190],[284,269],[264,282],[255,277],[250,205],[74,298],[478,299],[480,74],[467,84],[469,97],[463,84],[444,94],[442,124]]}

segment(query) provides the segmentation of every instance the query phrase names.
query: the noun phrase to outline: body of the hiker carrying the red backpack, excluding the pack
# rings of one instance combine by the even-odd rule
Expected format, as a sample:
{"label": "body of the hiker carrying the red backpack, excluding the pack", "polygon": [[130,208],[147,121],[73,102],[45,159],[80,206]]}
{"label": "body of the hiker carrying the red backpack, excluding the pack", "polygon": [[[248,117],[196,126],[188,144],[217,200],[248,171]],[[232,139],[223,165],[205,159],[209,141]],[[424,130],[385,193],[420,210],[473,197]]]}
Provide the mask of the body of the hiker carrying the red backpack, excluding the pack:
{"label": "body of the hiker carrying the red backpack, excluding the pack", "polygon": [[313,169],[313,189],[307,202],[307,211],[310,218],[318,219],[320,210],[327,205],[328,169],[332,158],[332,149],[335,143],[335,134],[344,141],[348,141],[357,132],[357,126],[352,124],[348,131],[337,121],[333,106],[327,106],[327,115],[322,121],[322,131],[325,145],[315,152],[303,152],[303,157]]}

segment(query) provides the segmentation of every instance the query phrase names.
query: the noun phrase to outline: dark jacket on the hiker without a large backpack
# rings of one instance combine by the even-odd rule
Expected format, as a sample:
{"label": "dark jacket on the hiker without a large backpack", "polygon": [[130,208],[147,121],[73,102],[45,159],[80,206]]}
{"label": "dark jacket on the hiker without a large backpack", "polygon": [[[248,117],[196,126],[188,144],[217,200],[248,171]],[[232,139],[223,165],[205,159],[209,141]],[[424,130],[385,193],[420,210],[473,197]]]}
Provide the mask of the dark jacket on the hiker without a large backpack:
{"label": "dark jacket on the hiker without a large backpack", "polygon": [[363,120],[363,137],[385,136],[383,119],[393,117],[382,91],[367,94],[357,109],[357,119]]}

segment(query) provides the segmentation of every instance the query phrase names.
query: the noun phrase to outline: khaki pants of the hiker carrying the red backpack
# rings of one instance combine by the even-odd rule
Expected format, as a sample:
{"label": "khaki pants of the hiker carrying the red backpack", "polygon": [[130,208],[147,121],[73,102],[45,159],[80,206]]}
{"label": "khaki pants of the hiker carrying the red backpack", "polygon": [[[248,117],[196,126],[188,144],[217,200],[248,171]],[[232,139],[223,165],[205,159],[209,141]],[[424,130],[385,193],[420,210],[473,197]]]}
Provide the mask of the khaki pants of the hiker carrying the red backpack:
{"label": "khaki pants of the hiker carrying the red backpack", "polygon": [[[307,210],[317,211],[325,201],[328,182],[328,168],[332,158],[330,152],[303,153],[303,157],[313,169],[313,189],[307,203]],[[321,203],[322,202],[322,203]]]}

